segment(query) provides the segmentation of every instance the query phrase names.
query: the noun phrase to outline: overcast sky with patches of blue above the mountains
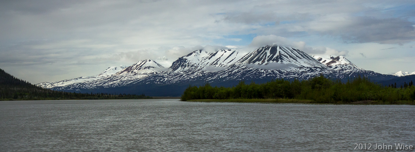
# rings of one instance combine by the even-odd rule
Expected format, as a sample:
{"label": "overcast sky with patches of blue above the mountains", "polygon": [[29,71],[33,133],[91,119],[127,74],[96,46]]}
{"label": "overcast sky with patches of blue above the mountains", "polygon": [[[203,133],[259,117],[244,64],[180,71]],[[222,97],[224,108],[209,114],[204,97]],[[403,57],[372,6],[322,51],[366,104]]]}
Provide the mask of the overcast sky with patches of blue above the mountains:
{"label": "overcast sky with patches of blue above the mountains", "polygon": [[[0,69],[36,84],[267,44],[415,71],[413,0],[2,0]],[[168,60],[159,58],[166,57]]]}

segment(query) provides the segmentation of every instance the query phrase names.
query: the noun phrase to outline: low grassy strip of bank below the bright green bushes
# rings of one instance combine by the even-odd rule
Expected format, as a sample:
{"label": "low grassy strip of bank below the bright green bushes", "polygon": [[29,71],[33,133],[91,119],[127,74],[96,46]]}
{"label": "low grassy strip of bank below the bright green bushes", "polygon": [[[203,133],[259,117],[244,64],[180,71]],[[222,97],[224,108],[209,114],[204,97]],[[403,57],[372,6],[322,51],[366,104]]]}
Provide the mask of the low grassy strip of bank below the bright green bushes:
{"label": "low grassy strip of bank below the bright green bushes", "polygon": [[[318,102],[314,100],[300,100],[300,99],[194,99],[187,100],[193,102],[232,102],[232,103],[329,103],[329,102]],[[388,105],[388,104],[404,104],[404,105],[415,105],[414,101],[356,101],[356,102],[330,102],[332,104],[374,104],[374,105]]]}

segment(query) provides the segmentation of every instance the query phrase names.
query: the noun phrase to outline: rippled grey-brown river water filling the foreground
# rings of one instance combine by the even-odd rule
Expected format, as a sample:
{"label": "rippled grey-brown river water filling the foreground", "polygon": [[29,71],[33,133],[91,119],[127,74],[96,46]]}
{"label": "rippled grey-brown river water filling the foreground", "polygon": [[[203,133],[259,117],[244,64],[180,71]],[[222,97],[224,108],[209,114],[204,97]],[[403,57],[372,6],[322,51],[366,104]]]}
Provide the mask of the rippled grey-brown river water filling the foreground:
{"label": "rippled grey-brown river water filling the foreground", "polygon": [[[1,152],[348,152],[415,146],[414,105],[1,101]],[[414,150],[405,150],[414,151]],[[402,150],[400,151],[402,152]]]}

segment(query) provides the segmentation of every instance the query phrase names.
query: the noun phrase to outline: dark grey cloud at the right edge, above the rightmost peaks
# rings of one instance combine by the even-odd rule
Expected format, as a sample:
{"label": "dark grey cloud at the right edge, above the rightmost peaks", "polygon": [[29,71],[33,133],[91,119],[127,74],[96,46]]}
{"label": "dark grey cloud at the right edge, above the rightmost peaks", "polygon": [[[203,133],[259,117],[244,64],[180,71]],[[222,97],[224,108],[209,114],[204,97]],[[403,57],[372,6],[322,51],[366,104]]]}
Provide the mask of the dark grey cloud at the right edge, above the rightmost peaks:
{"label": "dark grey cloud at the right edge, above the rightmost peaks", "polygon": [[309,22],[310,31],[341,36],[347,43],[403,44],[415,41],[413,22],[400,18],[325,15]]}

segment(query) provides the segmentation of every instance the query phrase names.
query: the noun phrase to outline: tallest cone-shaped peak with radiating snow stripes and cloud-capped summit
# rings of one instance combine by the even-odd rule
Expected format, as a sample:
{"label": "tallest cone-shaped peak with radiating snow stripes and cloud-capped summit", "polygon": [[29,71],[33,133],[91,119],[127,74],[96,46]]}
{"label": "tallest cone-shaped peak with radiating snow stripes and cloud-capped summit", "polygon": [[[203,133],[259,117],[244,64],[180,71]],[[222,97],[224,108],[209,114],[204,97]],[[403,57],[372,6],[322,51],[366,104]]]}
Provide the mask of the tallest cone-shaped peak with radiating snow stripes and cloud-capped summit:
{"label": "tallest cone-shaped peak with radiating snow stripes and cloud-capped summit", "polygon": [[320,73],[332,72],[332,69],[303,51],[290,47],[268,45],[242,56],[229,65],[229,68],[218,71],[208,80],[305,79]]}

